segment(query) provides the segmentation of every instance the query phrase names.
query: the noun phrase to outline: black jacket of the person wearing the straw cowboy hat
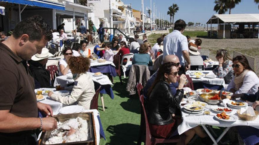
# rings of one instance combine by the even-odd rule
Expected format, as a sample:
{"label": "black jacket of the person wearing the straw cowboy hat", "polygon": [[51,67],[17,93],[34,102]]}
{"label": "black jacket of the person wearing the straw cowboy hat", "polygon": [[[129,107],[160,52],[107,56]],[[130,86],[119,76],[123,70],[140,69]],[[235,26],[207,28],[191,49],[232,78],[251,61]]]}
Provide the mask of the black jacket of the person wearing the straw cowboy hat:
{"label": "black jacket of the person wearing the straw cowboy hat", "polygon": [[35,88],[52,88],[50,85],[50,73],[37,61],[29,60],[29,69],[34,78]]}

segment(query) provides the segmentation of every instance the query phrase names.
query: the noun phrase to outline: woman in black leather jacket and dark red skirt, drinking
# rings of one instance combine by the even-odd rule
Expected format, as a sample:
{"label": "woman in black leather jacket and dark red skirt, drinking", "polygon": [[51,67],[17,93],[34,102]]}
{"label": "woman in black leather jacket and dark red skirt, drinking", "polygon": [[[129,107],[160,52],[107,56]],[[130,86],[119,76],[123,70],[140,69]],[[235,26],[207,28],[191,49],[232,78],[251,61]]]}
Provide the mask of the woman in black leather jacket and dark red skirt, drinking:
{"label": "woman in black leather jacket and dark red skirt, drinking", "polygon": [[[179,81],[179,87],[175,95],[172,95],[170,83]],[[147,118],[150,124],[150,132],[152,136],[158,138],[170,138],[177,135],[177,122],[173,119],[176,110],[180,108],[180,102],[183,98],[183,86],[186,82],[186,76],[178,75],[177,64],[167,62],[160,66],[157,77],[149,90],[149,98],[147,100]],[[185,132],[185,144],[192,139],[194,134],[201,138],[207,135],[202,132],[200,126],[189,129]],[[179,143],[177,143],[179,144]]]}

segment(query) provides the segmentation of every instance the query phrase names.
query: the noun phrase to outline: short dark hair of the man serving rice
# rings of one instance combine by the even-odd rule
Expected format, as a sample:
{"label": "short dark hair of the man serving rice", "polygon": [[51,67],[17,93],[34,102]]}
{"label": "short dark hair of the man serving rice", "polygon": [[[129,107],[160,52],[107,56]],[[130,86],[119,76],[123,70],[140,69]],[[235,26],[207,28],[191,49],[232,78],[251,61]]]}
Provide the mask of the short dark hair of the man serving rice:
{"label": "short dark hair of the man serving rice", "polygon": [[32,16],[19,22],[12,33],[14,38],[19,38],[21,35],[29,35],[29,41],[40,41],[43,36],[45,40],[52,40],[51,28],[41,16]]}

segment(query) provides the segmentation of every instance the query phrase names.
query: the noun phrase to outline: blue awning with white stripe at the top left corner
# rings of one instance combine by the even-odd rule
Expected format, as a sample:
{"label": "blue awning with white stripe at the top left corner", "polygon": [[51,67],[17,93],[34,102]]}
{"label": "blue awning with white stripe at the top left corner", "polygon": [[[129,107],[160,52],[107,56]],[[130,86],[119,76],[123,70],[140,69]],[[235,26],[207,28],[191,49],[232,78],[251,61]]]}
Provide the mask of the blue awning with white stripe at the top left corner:
{"label": "blue awning with white stripe at the top left corner", "polygon": [[63,4],[55,3],[47,0],[0,0],[0,1],[65,11],[65,6]]}

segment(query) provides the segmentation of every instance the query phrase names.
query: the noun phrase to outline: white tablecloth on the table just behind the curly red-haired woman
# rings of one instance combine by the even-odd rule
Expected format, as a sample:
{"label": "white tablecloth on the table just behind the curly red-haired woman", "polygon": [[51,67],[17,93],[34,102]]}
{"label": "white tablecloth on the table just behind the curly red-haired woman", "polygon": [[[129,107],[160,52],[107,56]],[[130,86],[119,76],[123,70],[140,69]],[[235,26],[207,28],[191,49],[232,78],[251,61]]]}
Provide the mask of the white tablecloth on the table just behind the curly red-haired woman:
{"label": "white tablecloth on the table just behind the curly red-haired woman", "polygon": [[[87,72],[87,73],[94,75],[94,73],[91,73],[91,72]],[[99,83],[100,85],[112,85],[112,82],[106,75],[93,76],[93,81]],[[66,75],[57,76],[54,81],[54,86],[56,86],[56,84],[60,84],[61,86],[67,86],[67,84],[71,84],[73,82],[74,82],[74,79],[67,79]]]}

